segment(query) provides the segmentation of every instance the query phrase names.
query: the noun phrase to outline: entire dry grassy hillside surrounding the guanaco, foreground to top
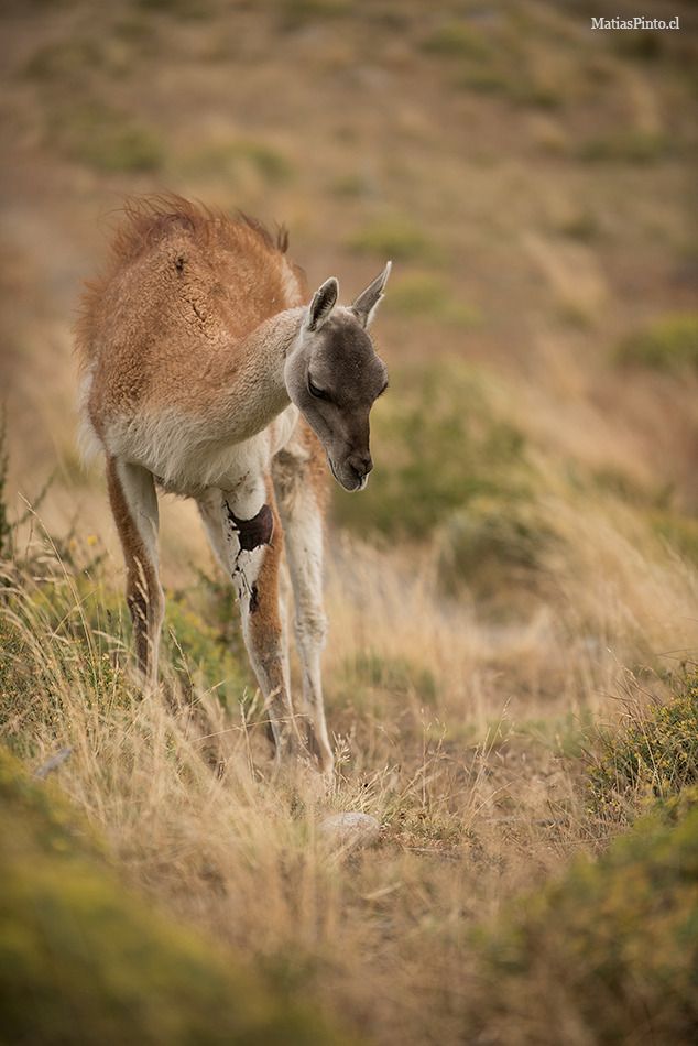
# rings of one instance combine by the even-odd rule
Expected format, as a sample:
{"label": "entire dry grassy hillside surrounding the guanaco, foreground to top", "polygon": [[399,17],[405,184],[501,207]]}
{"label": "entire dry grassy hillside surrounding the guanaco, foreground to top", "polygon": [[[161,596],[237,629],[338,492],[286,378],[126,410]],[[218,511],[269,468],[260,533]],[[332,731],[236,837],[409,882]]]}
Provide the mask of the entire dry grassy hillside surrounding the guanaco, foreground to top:
{"label": "entire dry grassy hillside surrounding the guanaco, foreground to top", "polygon": [[[2,816],[12,835],[24,789],[89,827],[66,856],[31,815],[8,913],[62,954],[79,919],[87,951],[65,981],[43,959],[2,978],[51,1006],[58,984],[118,982],[81,1038],[58,1006],[40,1040],[89,1040],[133,992],[153,1042],[173,1040],[165,1014],[199,1042],[228,991],[272,1029],[287,1010],[298,1042],[335,1040],[313,1031],[327,1021],[385,1044],[552,1043],[550,1014],[579,1046],[688,1040],[697,22],[679,3],[678,33],[601,33],[589,13],[3,4],[0,741],[25,773],[69,754],[48,792],[12,770]],[[284,221],[310,283],[336,274],[345,299],[394,261],[375,469],[363,494],[335,490],[328,533],[329,793],[308,767],[273,776],[230,591],[174,499],[162,694],[132,683],[72,325],[124,196],[163,188]],[[379,819],[373,849],[323,836],[343,810]],[[148,956],[123,981],[118,935],[92,958],[74,873],[171,954],[152,1010]],[[57,922],[30,919],[44,903]],[[171,1010],[207,951],[210,987]],[[206,1018],[211,1042],[235,1010]]]}

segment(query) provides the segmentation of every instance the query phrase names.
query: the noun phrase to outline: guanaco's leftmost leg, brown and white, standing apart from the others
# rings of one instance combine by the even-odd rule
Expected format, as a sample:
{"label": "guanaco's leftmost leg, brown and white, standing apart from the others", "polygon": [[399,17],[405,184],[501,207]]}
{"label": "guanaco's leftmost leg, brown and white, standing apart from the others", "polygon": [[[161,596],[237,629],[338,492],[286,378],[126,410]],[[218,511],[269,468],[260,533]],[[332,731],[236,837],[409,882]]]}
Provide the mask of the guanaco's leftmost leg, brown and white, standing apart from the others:
{"label": "guanaco's leftmost leg, brown and white, standing apart from the others", "polygon": [[135,656],[145,690],[150,691],[157,686],[157,653],[165,610],[157,569],[155,483],[142,466],[110,457],[107,484],[126,562]]}

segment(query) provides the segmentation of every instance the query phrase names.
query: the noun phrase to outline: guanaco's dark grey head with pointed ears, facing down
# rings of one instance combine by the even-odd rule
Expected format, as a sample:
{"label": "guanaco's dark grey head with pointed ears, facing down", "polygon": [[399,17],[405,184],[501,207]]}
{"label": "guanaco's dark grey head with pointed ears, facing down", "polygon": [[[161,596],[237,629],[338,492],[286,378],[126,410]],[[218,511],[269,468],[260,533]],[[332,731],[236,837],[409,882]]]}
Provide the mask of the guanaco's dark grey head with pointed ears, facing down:
{"label": "guanaco's dark grey head with pointed ears, facing down", "polygon": [[388,388],[388,371],[368,329],[390,270],[388,262],[348,307],[337,305],[337,280],[326,280],[286,358],[288,395],[319,436],[332,475],[346,490],[363,490],[373,468],[369,413]]}

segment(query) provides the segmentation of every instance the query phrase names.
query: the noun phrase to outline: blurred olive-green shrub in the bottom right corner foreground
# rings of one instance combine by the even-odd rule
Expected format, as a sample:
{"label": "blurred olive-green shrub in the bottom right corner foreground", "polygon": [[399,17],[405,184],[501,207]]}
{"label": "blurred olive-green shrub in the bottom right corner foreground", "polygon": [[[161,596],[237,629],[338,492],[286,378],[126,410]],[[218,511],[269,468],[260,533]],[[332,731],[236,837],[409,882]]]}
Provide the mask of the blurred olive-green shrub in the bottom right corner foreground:
{"label": "blurred olive-green shrub in the bottom right corner foreground", "polygon": [[[698,793],[597,862],[524,897],[476,939],[467,1038],[684,1043],[698,1027]],[[574,1032],[569,1031],[574,1029]]]}

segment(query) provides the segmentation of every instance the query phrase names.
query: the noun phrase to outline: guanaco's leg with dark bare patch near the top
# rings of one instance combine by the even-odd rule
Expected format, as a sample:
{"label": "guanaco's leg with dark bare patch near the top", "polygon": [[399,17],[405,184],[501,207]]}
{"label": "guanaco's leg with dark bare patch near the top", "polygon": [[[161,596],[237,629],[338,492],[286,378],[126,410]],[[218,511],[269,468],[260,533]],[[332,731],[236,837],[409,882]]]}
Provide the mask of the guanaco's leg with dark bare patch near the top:
{"label": "guanaco's leg with dark bare patch near the top", "polygon": [[261,480],[247,490],[211,489],[198,505],[216,556],[232,578],[276,754],[291,753],[298,748],[298,734],[279,598],[283,534],[271,482]]}

